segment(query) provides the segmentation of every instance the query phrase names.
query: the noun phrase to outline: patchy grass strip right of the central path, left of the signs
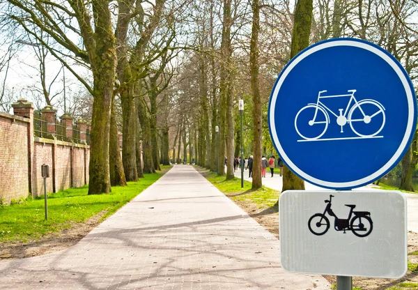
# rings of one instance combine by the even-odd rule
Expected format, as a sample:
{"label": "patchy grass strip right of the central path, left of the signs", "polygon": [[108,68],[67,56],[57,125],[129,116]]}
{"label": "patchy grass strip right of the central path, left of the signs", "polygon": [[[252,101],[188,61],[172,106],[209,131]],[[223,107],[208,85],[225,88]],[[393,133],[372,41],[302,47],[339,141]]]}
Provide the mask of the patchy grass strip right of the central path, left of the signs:
{"label": "patchy grass strip right of the central path, left of the signs", "polygon": [[226,181],[225,176],[217,176],[212,172],[208,173],[206,178],[233,201],[249,201],[257,204],[258,208],[270,208],[279,199],[279,191],[264,186],[259,190],[251,190],[249,181],[244,181],[244,188],[241,188],[240,178]]}

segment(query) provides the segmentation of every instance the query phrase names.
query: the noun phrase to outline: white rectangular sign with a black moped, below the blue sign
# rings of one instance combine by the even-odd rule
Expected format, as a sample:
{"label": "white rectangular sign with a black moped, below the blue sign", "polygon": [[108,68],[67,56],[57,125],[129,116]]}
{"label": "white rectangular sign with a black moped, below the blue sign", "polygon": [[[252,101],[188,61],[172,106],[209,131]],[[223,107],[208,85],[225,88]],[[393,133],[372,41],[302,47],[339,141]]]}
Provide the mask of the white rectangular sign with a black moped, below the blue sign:
{"label": "white rectangular sign with a black moped, below the blue sign", "polygon": [[287,190],[279,230],[281,266],[290,272],[399,278],[408,268],[401,192]]}

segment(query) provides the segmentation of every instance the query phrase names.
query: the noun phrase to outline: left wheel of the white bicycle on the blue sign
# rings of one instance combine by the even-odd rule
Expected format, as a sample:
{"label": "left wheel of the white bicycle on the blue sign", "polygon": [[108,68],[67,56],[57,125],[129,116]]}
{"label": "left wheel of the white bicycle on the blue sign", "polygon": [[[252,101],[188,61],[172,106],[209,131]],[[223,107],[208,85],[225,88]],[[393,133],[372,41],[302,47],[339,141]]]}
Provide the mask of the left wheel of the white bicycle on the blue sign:
{"label": "left wheel of the white bicycle on the blue sign", "polygon": [[295,129],[300,137],[315,140],[324,135],[328,128],[329,117],[322,107],[307,105],[295,116]]}

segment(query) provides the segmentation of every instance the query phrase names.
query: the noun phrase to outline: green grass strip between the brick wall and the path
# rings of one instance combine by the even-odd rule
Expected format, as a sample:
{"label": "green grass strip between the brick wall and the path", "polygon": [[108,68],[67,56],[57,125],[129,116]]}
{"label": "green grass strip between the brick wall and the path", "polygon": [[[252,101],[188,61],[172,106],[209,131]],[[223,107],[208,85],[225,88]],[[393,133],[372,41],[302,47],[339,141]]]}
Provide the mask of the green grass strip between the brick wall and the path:
{"label": "green grass strip between the brick wall and the path", "polygon": [[[162,167],[168,168],[171,166]],[[103,220],[157,181],[163,172],[145,174],[145,178],[129,182],[126,187],[112,187],[109,194],[88,195],[87,185],[48,194],[48,220],[43,196],[23,204],[0,206],[0,242],[37,241],[104,211]]]}

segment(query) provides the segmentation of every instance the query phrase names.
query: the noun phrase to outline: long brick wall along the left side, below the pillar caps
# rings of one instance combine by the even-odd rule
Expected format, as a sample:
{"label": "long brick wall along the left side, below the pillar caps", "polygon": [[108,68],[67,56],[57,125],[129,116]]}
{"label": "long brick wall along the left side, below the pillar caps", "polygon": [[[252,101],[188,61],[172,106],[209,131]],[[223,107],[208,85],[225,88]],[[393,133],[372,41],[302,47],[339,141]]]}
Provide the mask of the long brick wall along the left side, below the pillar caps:
{"label": "long brick wall along the left side, below the pillar caps", "polygon": [[0,112],[0,199],[44,194],[41,166],[49,165],[47,192],[88,182],[90,146],[33,137],[33,118]]}

